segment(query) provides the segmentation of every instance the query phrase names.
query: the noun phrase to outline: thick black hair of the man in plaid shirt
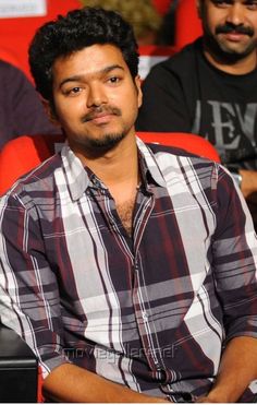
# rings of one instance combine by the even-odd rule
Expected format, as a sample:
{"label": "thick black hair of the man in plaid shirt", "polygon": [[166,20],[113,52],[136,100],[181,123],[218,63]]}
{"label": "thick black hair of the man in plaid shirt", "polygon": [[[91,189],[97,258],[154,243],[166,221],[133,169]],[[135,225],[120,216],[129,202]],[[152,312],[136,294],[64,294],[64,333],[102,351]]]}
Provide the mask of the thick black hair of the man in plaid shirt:
{"label": "thick black hair of the man in plaid shirt", "polygon": [[110,44],[118,47],[134,79],[138,72],[137,44],[132,26],[120,14],[100,8],[70,11],[42,25],[29,46],[29,64],[36,88],[52,99],[52,65],[85,47]]}

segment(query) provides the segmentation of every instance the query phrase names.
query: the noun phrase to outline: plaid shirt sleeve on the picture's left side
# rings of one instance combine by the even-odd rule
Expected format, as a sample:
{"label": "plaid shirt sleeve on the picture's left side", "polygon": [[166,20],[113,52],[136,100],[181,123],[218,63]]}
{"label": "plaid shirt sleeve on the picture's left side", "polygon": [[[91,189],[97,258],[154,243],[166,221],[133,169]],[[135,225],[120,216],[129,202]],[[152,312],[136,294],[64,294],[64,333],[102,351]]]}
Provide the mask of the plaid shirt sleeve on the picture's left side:
{"label": "plaid shirt sleeve on the picture's left side", "polygon": [[0,202],[1,322],[28,344],[44,377],[70,362],[63,346],[58,279],[44,248],[38,213],[32,201],[17,195]]}

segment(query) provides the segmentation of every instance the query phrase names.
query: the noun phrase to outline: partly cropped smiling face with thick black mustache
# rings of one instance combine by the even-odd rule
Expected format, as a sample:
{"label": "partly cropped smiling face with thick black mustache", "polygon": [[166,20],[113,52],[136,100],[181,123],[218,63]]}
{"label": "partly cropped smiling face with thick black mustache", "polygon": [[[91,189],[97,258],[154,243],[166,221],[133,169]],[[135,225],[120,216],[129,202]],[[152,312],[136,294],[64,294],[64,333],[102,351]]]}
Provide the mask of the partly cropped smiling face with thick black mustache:
{"label": "partly cropped smiling face with thick black mustache", "polygon": [[257,0],[198,0],[205,41],[218,56],[243,59],[257,47]]}

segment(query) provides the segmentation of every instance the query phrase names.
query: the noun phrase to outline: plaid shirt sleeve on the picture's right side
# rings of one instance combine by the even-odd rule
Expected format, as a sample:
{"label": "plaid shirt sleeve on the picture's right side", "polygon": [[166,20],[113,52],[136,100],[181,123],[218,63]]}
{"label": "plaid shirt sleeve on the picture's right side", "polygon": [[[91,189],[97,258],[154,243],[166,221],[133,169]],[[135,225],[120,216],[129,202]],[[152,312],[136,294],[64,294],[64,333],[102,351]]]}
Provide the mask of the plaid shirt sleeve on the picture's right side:
{"label": "plaid shirt sleeve on the picture's right side", "polygon": [[224,313],[227,341],[257,337],[257,240],[245,200],[227,169],[217,188],[215,281]]}

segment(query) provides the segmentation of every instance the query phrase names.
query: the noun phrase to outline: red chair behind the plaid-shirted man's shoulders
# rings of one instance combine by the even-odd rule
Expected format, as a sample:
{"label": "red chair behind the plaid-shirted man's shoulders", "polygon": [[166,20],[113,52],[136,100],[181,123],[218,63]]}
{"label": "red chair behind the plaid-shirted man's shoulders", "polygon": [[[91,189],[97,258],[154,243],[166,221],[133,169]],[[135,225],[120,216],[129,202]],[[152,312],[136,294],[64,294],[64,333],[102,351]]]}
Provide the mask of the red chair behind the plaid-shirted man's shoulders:
{"label": "red chair behind the plaid-shirted man's shoulders", "polygon": [[[215,146],[199,135],[168,132],[137,132],[137,135],[144,142],[176,146],[211,160],[220,162]],[[53,155],[63,142],[64,138],[62,135],[24,135],[8,142],[0,153],[0,195],[19,177]]]}

